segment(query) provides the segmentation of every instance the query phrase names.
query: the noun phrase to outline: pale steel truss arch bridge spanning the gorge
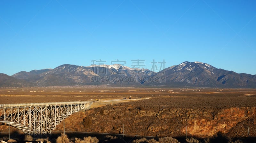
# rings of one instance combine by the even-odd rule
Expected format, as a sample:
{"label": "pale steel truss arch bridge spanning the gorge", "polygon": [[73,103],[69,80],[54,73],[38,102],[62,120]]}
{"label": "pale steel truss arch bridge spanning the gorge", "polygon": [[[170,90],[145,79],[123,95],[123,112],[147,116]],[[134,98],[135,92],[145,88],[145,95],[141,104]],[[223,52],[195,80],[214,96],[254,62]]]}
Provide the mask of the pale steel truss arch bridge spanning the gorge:
{"label": "pale steel truss arch bridge spanning the gorge", "polygon": [[91,104],[89,101],[0,104],[0,122],[27,134],[42,135],[52,133],[60,121],[89,109]]}

